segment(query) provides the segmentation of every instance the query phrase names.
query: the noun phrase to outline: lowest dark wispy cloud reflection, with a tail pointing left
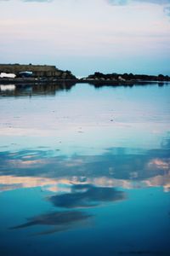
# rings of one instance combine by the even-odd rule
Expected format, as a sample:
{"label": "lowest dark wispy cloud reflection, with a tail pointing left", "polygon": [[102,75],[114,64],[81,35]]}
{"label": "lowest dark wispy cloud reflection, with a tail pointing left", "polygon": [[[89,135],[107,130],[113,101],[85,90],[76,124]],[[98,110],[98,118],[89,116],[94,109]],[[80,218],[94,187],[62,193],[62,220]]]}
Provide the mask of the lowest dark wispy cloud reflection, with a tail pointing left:
{"label": "lowest dark wispy cloud reflection, with a tail pointing left", "polygon": [[74,225],[81,223],[83,220],[92,217],[92,215],[86,212],[53,212],[48,214],[42,214],[37,217],[30,218],[26,224],[20,224],[19,226],[12,227],[11,230],[27,228],[34,225],[50,225],[55,226],[53,230],[47,230],[40,235],[50,234],[54,232],[69,230],[74,228]]}

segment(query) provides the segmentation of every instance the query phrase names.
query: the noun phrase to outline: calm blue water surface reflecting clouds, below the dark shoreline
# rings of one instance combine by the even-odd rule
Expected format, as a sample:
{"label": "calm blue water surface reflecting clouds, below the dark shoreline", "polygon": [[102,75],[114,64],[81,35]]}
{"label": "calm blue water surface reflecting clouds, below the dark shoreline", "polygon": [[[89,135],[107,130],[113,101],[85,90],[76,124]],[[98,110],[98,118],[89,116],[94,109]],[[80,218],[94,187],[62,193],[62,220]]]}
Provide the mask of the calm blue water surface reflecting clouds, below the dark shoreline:
{"label": "calm blue water surface reflecting clouds, below the dark shoreline", "polygon": [[0,85],[0,255],[170,255],[170,84]]}

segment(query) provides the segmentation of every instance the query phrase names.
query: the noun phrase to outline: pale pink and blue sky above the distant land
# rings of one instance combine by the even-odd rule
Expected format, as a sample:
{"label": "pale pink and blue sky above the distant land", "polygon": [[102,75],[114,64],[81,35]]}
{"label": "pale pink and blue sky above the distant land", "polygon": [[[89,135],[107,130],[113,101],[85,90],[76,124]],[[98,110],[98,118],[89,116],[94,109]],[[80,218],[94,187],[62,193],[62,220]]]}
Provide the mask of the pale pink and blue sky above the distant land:
{"label": "pale pink and blue sky above the distant land", "polygon": [[170,0],[0,0],[0,62],[170,75]]}

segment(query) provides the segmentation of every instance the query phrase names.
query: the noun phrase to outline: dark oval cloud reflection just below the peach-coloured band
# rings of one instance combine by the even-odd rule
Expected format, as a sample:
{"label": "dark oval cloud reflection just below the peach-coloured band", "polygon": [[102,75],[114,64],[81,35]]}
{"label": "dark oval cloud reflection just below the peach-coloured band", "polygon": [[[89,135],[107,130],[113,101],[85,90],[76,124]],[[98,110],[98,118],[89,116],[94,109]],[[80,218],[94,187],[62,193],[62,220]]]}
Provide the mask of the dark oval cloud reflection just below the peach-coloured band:
{"label": "dark oval cloud reflection just below the peach-coloured band", "polygon": [[101,202],[120,201],[125,193],[112,188],[94,187],[93,185],[74,185],[71,193],[54,195],[49,198],[55,207],[77,208],[95,207]]}

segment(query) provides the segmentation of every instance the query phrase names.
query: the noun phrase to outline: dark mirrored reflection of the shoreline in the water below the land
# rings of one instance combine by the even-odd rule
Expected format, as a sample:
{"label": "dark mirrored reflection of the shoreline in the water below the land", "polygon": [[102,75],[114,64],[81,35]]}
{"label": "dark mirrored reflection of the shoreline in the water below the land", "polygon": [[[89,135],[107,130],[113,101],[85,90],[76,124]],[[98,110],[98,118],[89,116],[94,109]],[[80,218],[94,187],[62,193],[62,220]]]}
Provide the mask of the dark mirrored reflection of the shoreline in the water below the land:
{"label": "dark mirrored reflection of the shoreline in the water below the land", "polygon": [[58,80],[53,83],[14,83],[14,81],[10,81],[10,83],[2,83],[0,82],[0,96],[55,96],[57,91],[61,90],[71,90],[73,86],[76,84],[86,84],[94,86],[94,88],[98,89],[100,87],[133,87],[133,86],[148,86],[148,85],[156,85],[156,86],[165,86],[169,85],[170,82],[156,82],[156,81],[133,81],[133,82],[116,82],[116,81],[93,81],[93,80]]}

